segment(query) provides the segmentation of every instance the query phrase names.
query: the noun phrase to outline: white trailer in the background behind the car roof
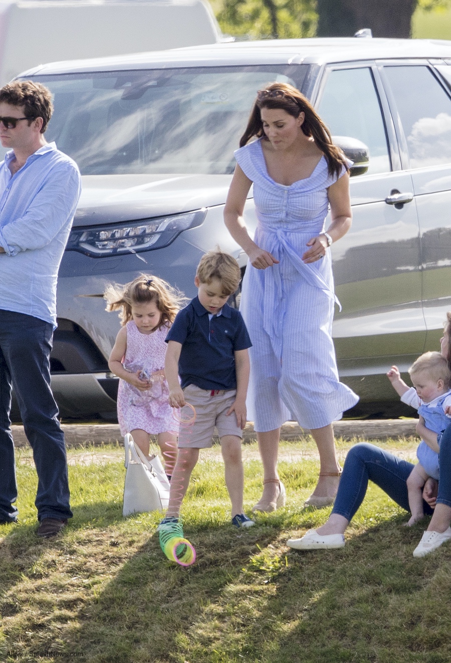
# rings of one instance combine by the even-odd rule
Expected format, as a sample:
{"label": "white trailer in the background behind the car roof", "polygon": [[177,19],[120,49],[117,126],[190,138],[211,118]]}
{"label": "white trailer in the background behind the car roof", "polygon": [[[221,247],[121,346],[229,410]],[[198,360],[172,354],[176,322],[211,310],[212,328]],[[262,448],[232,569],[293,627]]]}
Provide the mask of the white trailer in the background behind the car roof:
{"label": "white trailer in the background behind the car roof", "polygon": [[44,62],[220,41],[206,0],[0,0],[0,86]]}

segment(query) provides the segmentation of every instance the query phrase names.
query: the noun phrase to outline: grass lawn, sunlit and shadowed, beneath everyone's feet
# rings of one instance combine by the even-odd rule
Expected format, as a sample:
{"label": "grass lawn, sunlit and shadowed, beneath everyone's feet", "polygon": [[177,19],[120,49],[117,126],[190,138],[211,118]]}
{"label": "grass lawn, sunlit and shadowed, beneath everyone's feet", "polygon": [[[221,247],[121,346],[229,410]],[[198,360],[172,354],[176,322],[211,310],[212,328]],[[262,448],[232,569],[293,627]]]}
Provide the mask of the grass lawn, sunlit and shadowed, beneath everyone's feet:
{"label": "grass lawn, sunlit and shadowed, beneath everyone's feet", "polygon": [[[380,444],[380,443],[379,443]],[[415,440],[383,443],[407,457]],[[340,457],[350,443],[339,442]],[[74,518],[41,541],[36,475],[19,450],[19,525],[0,531],[0,660],[83,663],[448,663],[451,545],[412,556],[424,523],[372,486],[346,548],[296,552],[289,536],[330,509],[302,509],[318,461],[308,441],[281,446],[288,506],[229,525],[220,451],[204,456],[184,503],[197,561],[166,560],[161,514],[121,516],[125,469],[117,448],[70,451]],[[243,449],[245,508],[261,491],[255,444]],[[93,462],[96,461],[96,462]]]}

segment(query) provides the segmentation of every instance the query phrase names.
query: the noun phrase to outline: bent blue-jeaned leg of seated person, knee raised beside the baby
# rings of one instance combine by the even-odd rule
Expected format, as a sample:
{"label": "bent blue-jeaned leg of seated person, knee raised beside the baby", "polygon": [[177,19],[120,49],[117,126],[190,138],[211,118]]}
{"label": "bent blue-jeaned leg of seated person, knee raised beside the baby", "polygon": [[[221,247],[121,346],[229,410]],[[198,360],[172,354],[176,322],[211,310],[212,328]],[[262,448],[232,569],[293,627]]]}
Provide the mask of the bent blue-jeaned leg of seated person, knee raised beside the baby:
{"label": "bent blue-jeaned leg of seated person, knee raised beside the baby", "polygon": [[[356,444],[346,456],[332,513],[352,520],[363,502],[368,480],[378,485],[400,507],[410,511],[406,481],[413,467],[412,463],[398,458],[393,453],[385,452],[373,444],[366,442]],[[448,467],[450,466],[448,465]],[[432,509],[424,501],[423,507],[424,513],[432,513]]]}

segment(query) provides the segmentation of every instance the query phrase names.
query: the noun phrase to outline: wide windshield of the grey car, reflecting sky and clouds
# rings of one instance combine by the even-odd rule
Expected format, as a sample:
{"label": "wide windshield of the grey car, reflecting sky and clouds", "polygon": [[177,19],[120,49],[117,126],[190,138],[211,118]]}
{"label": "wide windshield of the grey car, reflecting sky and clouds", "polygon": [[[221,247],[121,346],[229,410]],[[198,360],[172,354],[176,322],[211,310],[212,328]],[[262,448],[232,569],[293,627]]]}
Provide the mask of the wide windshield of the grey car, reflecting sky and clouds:
{"label": "wide windshield of the grey car, reflecting sky and clouds", "polygon": [[308,66],[233,66],[40,76],[54,95],[47,141],[82,174],[233,172],[255,93],[302,88]]}

